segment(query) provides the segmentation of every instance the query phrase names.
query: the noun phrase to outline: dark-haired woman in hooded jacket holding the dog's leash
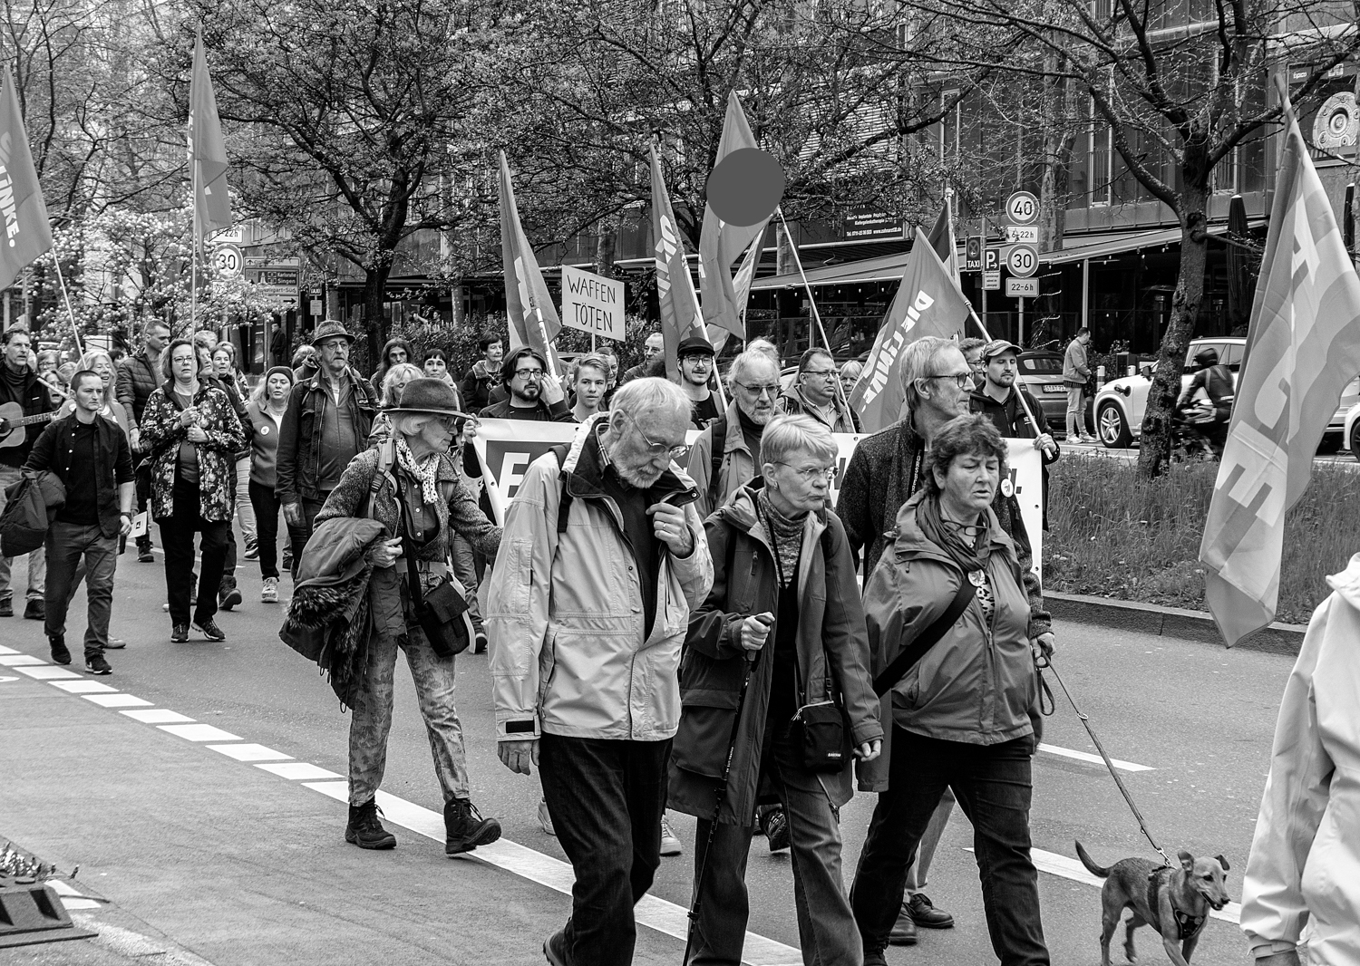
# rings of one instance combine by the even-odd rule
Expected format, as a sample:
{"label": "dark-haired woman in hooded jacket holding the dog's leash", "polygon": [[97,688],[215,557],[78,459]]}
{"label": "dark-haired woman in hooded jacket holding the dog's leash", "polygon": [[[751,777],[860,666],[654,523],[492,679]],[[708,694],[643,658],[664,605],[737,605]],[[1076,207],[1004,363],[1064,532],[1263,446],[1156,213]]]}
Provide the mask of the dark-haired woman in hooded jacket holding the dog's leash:
{"label": "dark-haired woman in hooded jacket holding the dog's leash", "polygon": [[[926,486],[865,587],[885,754],[861,766],[879,792],[850,893],[865,966],[883,966],[907,867],[947,787],[972,822],[991,948],[1004,966],[1046,966],[1030,857],[1038,670],[1016,546],[991,509],[1006,444],[986,416],[947,423]],[[906,655],[904,658],[902,655]]]}

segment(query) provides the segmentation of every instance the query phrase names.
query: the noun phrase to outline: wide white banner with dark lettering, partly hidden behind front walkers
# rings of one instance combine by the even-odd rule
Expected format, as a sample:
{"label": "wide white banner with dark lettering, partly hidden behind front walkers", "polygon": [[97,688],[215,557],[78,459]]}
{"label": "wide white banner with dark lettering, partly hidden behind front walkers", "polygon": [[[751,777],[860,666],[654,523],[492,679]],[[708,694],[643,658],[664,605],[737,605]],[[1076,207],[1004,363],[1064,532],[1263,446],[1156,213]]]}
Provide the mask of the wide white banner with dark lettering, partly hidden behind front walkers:
{"label": "wide white banner with dark lettering, partly hidden behind front walkers", "polygon": [[[581,427],[570,423],[524,423],[520,420],[481,420],[472,443],[483,466],[483,481],[487,496],[495,512],[496,523],[505,523],[505,512],[524,482],[529,465],[559,443],[570,443]],[[694,444],[698,429],[685,435],[685,442]],[[840,452],[836,457],[836,476],[831,481],[831,505],[840,497],[840,480],[855,444],[862,439],[854,433],[832,433]],[[1030,548],[1034,553],[1034,571],[1042,575],[1043,561],[1043,477],[1042,458],[1031,439],[1008,439],[1009,474],[1001,481],[1002,492],[1009,486],[1020,503],[1025,530],[1030,533]],[[681,458],[681,469],[687,459]]]}

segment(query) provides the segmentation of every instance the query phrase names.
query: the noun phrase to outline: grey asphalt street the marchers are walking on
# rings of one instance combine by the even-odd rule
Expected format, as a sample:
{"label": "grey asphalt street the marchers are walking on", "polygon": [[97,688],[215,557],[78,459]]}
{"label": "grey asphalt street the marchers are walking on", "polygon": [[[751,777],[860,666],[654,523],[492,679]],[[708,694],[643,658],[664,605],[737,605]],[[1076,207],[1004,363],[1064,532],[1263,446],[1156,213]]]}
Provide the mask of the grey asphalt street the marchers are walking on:
{"label": "grey asphalt street the marchers are walking on", "polygon": [[[73,884],[105,899],[82,914],[110,935],[169,942],[186,951],[184,962],[543,962],[544,936],[567,914],[571,876],[534,819],[537,779],[513,776],[495,757],[486,658],[458,658],[460,712],[473,799],[502,821],[505,840],[479,849],[484,860],[443,856],[430,751],[409,674],[398,671],[384,785],[394,798],[379,799],[398,848],[360,852],[343,840],[345,810],[336,800],[348,717],[316,667],[279,641],[283,606],[257,602],[257,573],[253,564],[242,567],[246,603],[219,618],[227,641],[194,634],[171,644],[159,564],[122,557],[113,633],[128,648],[110,652],[107,678],[33,663],[48,660],[41,625],[0,622],[0,837],[64,870],[79,864]],[[20,564],[19,587],[22,575]],[[72,613],[83,614],[83,601]],[[78,637],[78,628],[83,621],[68,636]],[[1076,624],[1059,624],[1058,634],[1057,667],[1106,747],[1127,766],[1144,766],[1123,777],[1153,834],[1172,853],[1224,853],[1229,893],[1240,898],[1291,659]],[[178,727],[185,724],[200,727]],[[1044,931],[1054,963],[1093,965],[1098,890],[1072,871],[1073,840],[1106,864],[1152,853],[1104,768],[1081,757],[1095,749],[1065,704],[1044,740],[1068,753],[1043,751],[1035,766]],[[847,878],[872,804],[864,795],[842,812]],[[638,963],[680,959],[694,821],[680,818],[677,827],[687,853],[664,860],[656,901],[639,910],[647,925]],[[968,823],[957,817],[929,887],[957,927],[889,951],[889,962],[994,962],[970,845]],[[798,962],[787,856],[768,856],[758,840],[748,880],[749,929],[764,940],[748,942],[748,961]],[[1210,923],[1198,966],[1246,962],[1235,914],[1229,906],[1224,916],[1234,921]],[[69,958],[57,947],[0,950],[0,963],[84,962],[82,946],[69,944]],[[1144,962],[1164,962],[1148,929],[1140,931],[1140,950]]]}

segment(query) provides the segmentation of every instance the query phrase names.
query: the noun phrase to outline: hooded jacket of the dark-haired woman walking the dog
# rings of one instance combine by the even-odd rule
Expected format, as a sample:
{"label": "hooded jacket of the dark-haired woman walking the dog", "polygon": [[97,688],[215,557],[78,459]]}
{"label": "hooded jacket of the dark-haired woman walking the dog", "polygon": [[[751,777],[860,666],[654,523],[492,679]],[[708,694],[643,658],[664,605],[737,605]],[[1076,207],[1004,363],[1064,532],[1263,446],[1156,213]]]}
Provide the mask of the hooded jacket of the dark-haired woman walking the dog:
{"label": "hooded jacket of the dark-haired woman walking the dog", "polygon": [[[917,507],[925,499],[921,490],[902,507],[896,541],[865,586],[874,677],[949,607],[967,579],[921,531]],[[1000,745],[1034,734],[1030,708],[1038,696],[1038,671],[1030,651],[1030,602],[1015,543],[991,509],[987,518],[986,573],[996,611],[987,621],[974,596],[944,637],[883,696],[883,720],[895,727],[967,745]],[[889,745],[884,742],[883,754],[861,765],[862,791],[887,789]]]}

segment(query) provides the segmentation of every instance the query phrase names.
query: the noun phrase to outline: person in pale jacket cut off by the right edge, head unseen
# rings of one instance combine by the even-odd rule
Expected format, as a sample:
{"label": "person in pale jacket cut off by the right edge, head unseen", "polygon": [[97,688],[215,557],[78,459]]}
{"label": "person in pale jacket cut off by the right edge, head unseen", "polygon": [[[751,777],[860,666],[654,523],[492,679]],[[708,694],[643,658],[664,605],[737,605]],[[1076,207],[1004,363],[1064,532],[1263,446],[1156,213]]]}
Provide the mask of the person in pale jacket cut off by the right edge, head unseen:
{"label": "person in pale jacket cut off by the right edge, head unseen", "polygon": [[1242,886],[1257,966],[1360,966],[1360,553],[1327,583],[1280,702]]}

